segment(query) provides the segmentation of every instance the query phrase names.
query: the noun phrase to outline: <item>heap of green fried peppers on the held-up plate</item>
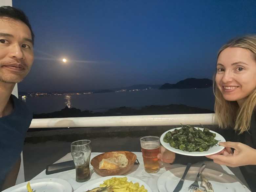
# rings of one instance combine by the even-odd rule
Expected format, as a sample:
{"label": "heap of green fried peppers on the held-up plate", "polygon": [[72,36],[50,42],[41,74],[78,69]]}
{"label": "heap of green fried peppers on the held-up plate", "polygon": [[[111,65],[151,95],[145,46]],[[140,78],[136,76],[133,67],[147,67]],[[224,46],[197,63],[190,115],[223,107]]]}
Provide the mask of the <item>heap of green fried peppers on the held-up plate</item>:
{"label": "heap of green fried peppers on the held-up plate", "polygon": [[208,151],[208,149],[218,143],[214,139],[215,133],[211,133],[209,129],[194,128],[191,125],[181,126],[181,129],[175,129],[165,134],[163,141],[169,143],[171,147],[182,151]]}

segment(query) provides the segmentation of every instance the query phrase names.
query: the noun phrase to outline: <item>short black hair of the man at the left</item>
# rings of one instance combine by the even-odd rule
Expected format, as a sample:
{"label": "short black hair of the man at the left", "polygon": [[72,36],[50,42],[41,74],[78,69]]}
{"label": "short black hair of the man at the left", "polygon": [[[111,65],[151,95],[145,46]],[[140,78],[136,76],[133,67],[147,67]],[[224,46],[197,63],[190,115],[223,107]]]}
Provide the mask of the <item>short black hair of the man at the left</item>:
{"label": "short black hair of the man at the left", "polygon": [[19,20],[19,21],[22,21],[23,23],[25,23],[31,31],[32,42],[34,44],[35,35],[32,31],[31,25],[29,23],[29,19],[23,11],[16,9],[14,7],[11,7],[11,6],[2,6],[2,7],[0,7],[0,17],[9,17],[14,20]]}

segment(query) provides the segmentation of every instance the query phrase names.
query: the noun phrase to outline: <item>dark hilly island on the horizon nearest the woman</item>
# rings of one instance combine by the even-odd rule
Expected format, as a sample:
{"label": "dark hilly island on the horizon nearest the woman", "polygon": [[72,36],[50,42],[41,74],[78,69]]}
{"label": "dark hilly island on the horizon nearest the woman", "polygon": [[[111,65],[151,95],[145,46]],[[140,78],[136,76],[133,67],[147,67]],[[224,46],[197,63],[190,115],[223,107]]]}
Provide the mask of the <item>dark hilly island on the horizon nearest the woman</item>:
{"label": "dark hilly island on the horizon nearest the woman", "polygon": [[191,88],[208,88],[212,86],[211,79],[196,79],[187,78],[185,80],[179,81],[176,84],[165,83],[160,86],[159,89],[191,89]]}

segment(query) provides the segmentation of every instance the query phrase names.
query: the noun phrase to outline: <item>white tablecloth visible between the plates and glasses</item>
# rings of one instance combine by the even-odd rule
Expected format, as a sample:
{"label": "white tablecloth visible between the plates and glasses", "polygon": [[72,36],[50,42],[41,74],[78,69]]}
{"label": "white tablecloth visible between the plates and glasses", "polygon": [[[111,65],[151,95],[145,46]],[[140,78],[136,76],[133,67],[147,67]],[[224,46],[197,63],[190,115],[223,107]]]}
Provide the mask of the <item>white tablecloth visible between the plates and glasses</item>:
{"label": "white tablecloth visible between the plates and glasses", "polygon": [[[128,172],[127,174],[125,174],[125,175],[135,177],[135,178],[138,178],[138,179],[146,182],[149,185],[149,187],[152,189],[153,192],[158,192],[157,180],[158,180],[159,176],[162,173],[164,173],[167,170],[173,169],[173,168],[185,166],[185,165],[181,165],[181,164],[162,163],[162,165],[160,166],[161,167],[160,171],[158,173],[150,174],[150,173],[145,172],[145,170],[144,170],[142,153],[141,152],[133,152],[133,153],[136,154],[140,165],[134,165],[132,170],[130,172]],[[91,154],[91,159],[94,158],[95,156],[99,155],[99,154],[101,154],[101,153],[92,153]],[[64,161],[68,161],[68,160],[73,160],[72,156],[71,156],[71,153],[68,153],[67,155],[65,155],[63,158],[59,159],[55,163],[64,162]],[[220,171],[222,173],[232,175],[238,181],[240,181],[236,176],[234,176],[234,173],[232,171],[230,171],[230,169],[227,166],[218,165],[218,164],[214,163],[213,161],[206,161],[206,163],[207,163],[207,168],[208,169],[214,169],[216,171]],[[193,164],[192,166],[200,167],[201,165],[202,165],[202,162],[199,162],[199,163]],[[91,166],[91,164],[90,164],[90,171],[91,171],[91,179],[89,181],[92,181],[94,179],[98,179],[98,178],[101,177],[96,172],[94,172],[93,167]],[[54,174],[51,174],[51,175],[46,175],[45,170],[43,170],[36,177],[34,177],[32,180],[43,179],[43,178],[64,179],[72,185],[74,190],[76,190],[78,187],[80,187],[81,185],[86,183],[86,182],[79,183],[79,182],[75,181],[75,169],[69,170],[69,171],[63,171],[63,172],[60,172],[60,173],[54,173]],[[243,183],[241,182],[241,184],[243,184]],[[245,191],[250,192],[250,190],[247,187],[245,187]]]}

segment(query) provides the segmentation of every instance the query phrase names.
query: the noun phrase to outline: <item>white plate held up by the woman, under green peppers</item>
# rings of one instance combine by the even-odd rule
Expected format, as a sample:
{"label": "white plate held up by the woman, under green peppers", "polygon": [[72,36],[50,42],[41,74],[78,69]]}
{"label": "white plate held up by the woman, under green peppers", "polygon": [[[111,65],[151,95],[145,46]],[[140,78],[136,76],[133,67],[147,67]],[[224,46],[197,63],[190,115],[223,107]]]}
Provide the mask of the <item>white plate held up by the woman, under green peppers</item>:
{"label": "white plate held up by the woman, under green peppers", "polygon": [[[195,127],[195,128],[197,128],[197,127]],[[220,152],[221,150],[224,149],[223,146],[218,146],[218,145],[212,146],[212,147],[209,148],[208,151],[203,151],[203,152],[198,152],[198,151],[188,152],[188,151],[182,151],[180,149],[175,149],[174,147],[171,147],[169,143],[166,143],[166,142],[163,141],[163,138],[164,138],[165,134],[169,131],[174,131],[175,129],[181,129],[181,127],[177,127],[177,128],[165,131],[160,137],[160,142],[161,142],[162,146],[164,146],[169,151],[172,151],[174,153],[178,153],[178,154],[181,154],[181,155],[187,155],[187,156],[205,156],[205,155],[212,155],[212,154],[218,153],[218,152]],[[199,129],[201,129],[203,131],[203,128],[199,128]],[[215,139],[219,140],[219,142],[225,142],[226,141],[224,139],[224,137],[222,137],[220,134],[218,134],[214,131],[211,131],[211,130],[210,130],[210,132],[216,134]]]}

